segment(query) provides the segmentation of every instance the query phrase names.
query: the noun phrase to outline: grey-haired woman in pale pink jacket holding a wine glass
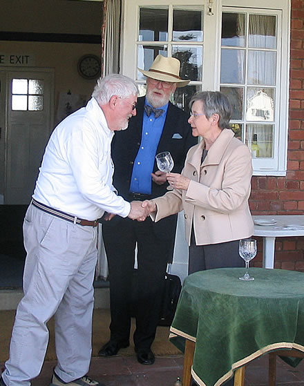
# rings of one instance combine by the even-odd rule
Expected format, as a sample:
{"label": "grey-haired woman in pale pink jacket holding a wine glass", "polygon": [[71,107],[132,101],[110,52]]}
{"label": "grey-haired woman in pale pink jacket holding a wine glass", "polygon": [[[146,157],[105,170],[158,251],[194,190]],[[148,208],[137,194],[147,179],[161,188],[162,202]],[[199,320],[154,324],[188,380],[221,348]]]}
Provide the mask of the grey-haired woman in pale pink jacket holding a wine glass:
{"label": "grey-haired woman in pale pink jacket holding a wine glass", "polygon": [[243,267],[238,242],[254,231],[248,204],[251,153],[229,128],[225,95],[204,91],[189,106],[192,134],[202,140],[190,148],[181,174],[167,174],[173,191],[142,206],[155,221],[184,210],[189,273]]}

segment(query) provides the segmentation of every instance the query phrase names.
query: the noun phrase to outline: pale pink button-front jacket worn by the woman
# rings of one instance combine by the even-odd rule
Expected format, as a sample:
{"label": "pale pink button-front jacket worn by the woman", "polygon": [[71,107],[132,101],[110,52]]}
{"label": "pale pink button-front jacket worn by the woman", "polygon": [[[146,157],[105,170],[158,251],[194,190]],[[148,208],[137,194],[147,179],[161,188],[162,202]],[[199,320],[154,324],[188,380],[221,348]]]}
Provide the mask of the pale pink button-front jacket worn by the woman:
{"label": "pale pink button-front jacket worn by the woman", "polygon": [[248,199],[252,175],[248,147],[224,129],[202,165],[204,140],[189,149],[182,175],[190,178],[187,191],[173,190],[155,198],[155,221],[184,209],[186,240],[193,224],[197,245],[249,238],[254,223]]}

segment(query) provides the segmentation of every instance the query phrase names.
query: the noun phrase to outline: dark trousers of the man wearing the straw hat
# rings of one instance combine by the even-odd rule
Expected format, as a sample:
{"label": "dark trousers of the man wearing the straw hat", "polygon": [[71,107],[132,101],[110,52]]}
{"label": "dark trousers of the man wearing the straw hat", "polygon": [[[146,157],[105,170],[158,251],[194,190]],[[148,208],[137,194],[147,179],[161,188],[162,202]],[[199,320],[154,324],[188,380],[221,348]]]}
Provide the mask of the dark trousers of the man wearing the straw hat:
{"label": "dark trousers of the man wearing the straw hat", "polygon": [[[117,218],[117,221],[111,222],[102,227],[110,280],[111,340],[129,340],[137,245],[136,329],[133,340],[135,349],[149,349],[155,338],[160,316],[164,273],[172,252],[172,242],[155,234],[150,218],[144,222],[129,218]],[[174,233],[175,229],[173,238]]]}

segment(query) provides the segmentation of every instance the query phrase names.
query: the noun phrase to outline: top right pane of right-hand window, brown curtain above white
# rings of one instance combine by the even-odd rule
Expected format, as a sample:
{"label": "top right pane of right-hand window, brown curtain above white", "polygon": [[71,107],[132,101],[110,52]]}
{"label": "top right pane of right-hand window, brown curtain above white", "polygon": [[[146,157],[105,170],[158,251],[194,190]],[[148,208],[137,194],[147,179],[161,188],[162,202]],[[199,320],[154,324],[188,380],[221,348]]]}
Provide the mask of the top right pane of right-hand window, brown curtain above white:
{"label": "top right pane of right-hand window, brown curtain above white", "polygon": [[276,48],[276,17],[249,15],[249,47]]}

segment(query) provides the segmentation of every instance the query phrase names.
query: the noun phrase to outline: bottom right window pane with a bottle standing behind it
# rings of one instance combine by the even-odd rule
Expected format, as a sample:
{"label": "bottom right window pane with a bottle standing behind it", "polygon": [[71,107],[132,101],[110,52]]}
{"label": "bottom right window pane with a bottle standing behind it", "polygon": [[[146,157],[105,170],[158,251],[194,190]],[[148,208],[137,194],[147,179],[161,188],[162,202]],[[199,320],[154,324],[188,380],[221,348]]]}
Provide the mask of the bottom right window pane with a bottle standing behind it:
{"label": "bottom right window pane with a bottle standing behind it", "polygon": [[274,125],[248,124],[246,130],[246,143],[251,148],[252,139],[256,134],[258,141],[258,157],[273,157]]}

